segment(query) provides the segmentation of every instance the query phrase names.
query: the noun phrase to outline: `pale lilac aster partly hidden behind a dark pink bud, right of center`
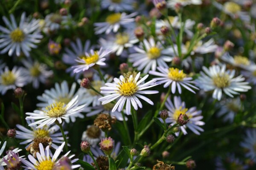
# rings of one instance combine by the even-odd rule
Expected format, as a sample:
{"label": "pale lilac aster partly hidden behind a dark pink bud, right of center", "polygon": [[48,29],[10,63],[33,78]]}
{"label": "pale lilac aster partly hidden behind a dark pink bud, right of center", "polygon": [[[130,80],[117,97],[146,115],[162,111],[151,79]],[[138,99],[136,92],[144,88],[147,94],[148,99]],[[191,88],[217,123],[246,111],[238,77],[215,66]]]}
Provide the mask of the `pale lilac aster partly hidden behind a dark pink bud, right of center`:
{"label": "pale lilac aster partly hidden behind a dark pink bud, right of center", "polygon": [[[202,111],[197,111],[196,107],[186,108],[186,104],[185,102],[181,101],[180,96],[174,96],[174,104],[172,103],[171,99],[168,98],[165,106],[169,111],[169,118],[166,119],[166,123],[171,123],[171,125],[174,125],[180,114],[186,114],[189,117],[189,122],[180,127],[184,135],[187,134],[186,127],[197,135],[200,135],[200,131],[204,131],[204,129],[199,127],[205,124],[201,121],[203,119],[203,116],[201,116]],[[178,133],[175,134],[178,136]]]}

